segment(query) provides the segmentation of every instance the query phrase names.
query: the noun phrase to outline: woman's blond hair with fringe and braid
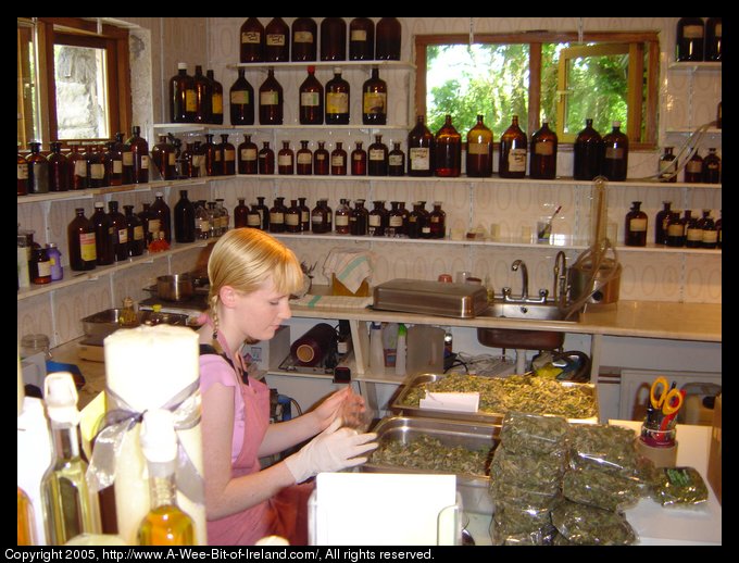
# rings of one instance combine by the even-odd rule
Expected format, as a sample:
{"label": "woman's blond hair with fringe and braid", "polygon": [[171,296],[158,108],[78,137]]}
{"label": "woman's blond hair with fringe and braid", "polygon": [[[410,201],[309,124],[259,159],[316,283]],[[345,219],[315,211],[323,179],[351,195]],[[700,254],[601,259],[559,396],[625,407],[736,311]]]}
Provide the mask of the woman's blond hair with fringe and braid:
{"label": "woman's blond hair with fringe and braid", "polygon": [[210,314],[217,331],[218,293],[224,286],[250,293],[271,279],[279,293],[302,287],[303,273],[292,250],[255,228],[226,232],[213,246],[208,260]]}

